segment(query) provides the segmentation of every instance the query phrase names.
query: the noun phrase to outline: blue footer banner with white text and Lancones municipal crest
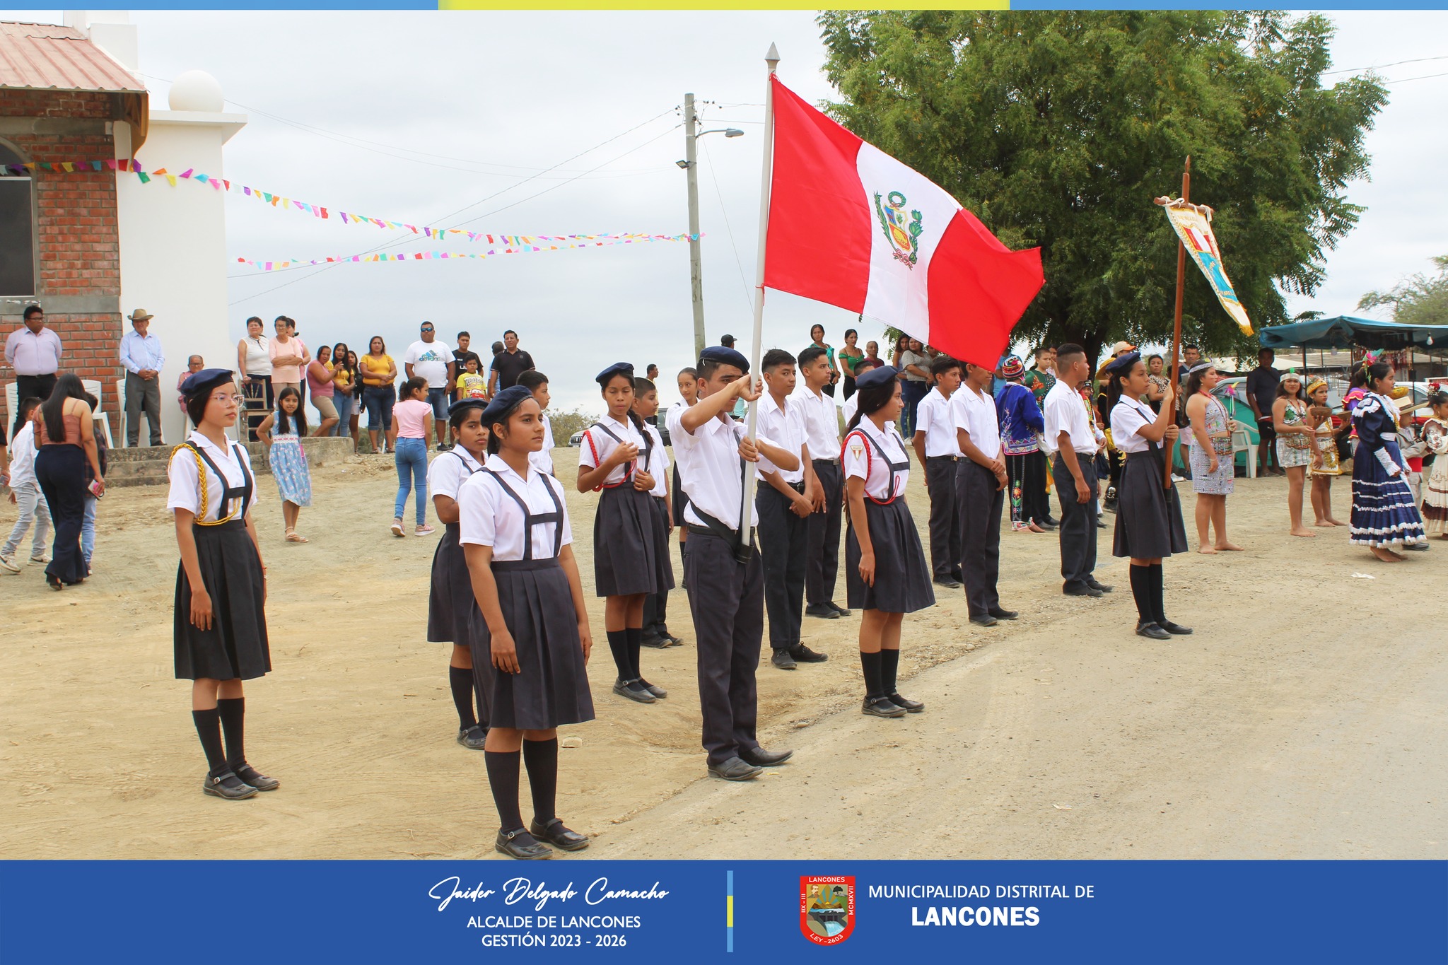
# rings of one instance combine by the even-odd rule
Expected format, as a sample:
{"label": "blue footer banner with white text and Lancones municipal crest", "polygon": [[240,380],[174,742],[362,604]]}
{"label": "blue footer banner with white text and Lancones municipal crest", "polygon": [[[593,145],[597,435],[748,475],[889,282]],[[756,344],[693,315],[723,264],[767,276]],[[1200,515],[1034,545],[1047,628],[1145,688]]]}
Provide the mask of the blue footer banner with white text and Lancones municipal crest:
{"label": "blue footer banner with white text and Lancones municipal crest", "polygon": [[233,953],[346,965],[430,955],[1448,962],[1448,864],[0,864],[0,962],[158,965]]}

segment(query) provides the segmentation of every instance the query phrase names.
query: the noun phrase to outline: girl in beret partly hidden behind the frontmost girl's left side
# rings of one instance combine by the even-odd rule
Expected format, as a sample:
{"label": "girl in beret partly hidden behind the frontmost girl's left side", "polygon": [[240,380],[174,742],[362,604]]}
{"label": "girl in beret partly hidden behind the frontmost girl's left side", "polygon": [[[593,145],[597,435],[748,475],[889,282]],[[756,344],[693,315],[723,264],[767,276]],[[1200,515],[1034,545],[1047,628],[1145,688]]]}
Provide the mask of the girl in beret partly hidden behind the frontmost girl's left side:
{"label": "girl in beret partly hidden behind the frontmost girl's left side", "polygon": [[[447,684],[458,710],[458,744],[481,751],[488,735],[488,705],[484,690],[473,681],[469,619],[472,615],[472,579],[459,538],[458,492],[488,459],[488,430],[482,427],[487,399],[462,398],[447,409],[453,447],[440,453],[427,467],[427,490],[443,522],[443,538],[433,553],[432,593],[427,599],[427,639],[453,645],[447,661]],[[487,668],[484,668],[487,670]],[[487,674],[485,674],[487,676]],[[476,697],[476,713],[473,699]]]}

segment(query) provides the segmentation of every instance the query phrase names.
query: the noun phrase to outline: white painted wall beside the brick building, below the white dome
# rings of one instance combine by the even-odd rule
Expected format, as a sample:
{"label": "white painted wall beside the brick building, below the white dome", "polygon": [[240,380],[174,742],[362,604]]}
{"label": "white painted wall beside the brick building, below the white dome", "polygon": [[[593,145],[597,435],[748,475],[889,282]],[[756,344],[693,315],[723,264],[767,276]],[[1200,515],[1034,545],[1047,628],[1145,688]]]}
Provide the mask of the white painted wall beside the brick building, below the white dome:
{"label": "white painted wall beside the brick building, below the white dome", "polygon": [[[193,168],[222,177],[222,148],[245,124],[245,114],[152,109],[139,161],[146,171]],[[116,146],[122,156],[122,139]],[[207,366],[236,367],[226,315],[226,192],[190,179],[171,187],[164,177],[142,184],[117,172],[116,201],[122,314],[145,308],[155,315],[151,333],[167,353],[159,376],[162,431],[167,443],[180,443],[185,417],[175,385],[187,356],[200,353]]]}

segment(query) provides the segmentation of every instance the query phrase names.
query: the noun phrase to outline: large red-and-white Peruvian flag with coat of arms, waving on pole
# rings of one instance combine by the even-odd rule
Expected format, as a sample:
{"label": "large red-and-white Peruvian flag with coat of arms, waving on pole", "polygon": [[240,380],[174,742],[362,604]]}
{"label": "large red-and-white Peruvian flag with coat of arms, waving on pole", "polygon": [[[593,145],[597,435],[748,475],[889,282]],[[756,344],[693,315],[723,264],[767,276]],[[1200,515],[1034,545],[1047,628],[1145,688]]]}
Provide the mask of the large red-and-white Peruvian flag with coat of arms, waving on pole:
{"label": "large red-and-white Peruvian flag with coat of arms, waving on pole", "polygon": [[1012,252],[944,188],[770,82],[765,285],[993,369],[1045,282],[1041,249]]}

